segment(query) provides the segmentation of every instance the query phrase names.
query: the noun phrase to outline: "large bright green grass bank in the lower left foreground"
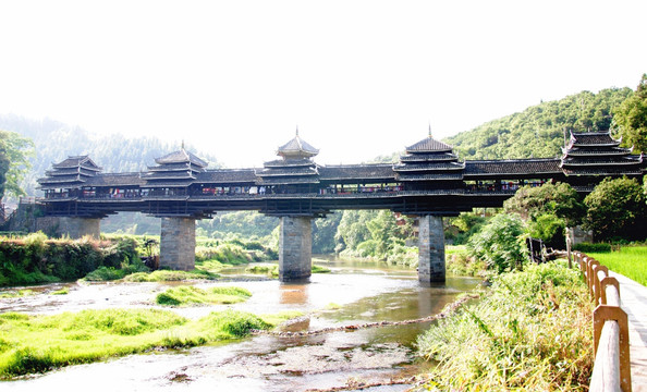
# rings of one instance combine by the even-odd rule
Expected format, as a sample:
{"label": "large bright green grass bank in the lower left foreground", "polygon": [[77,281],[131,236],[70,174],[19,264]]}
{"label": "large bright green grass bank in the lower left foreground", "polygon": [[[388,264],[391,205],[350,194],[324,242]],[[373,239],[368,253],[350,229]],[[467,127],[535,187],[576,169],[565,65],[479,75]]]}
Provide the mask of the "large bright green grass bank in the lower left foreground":
{"label": "large bright green grass bank in the lower left foreground", "polygon": [[270,329],[294,314],[225,310],[188,320],[169,310],[102,309],[54,316],[0,314],[0,379],[144,353],[191,347]]}

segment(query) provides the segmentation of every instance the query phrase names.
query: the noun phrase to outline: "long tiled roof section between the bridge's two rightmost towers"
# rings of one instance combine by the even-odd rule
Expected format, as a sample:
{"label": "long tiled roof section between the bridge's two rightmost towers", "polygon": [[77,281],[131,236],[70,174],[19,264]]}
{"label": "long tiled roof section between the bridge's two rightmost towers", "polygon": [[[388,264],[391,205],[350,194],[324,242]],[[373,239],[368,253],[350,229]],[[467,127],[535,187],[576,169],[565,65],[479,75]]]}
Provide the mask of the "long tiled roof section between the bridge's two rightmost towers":
{"label": "long tiled roof section between the bridge's two rightmost towers", "polygon": [[491,174],[559,174],[562,172],[560,162],[557,158],[465,161],[465,177],[467,180],[468,176]]}

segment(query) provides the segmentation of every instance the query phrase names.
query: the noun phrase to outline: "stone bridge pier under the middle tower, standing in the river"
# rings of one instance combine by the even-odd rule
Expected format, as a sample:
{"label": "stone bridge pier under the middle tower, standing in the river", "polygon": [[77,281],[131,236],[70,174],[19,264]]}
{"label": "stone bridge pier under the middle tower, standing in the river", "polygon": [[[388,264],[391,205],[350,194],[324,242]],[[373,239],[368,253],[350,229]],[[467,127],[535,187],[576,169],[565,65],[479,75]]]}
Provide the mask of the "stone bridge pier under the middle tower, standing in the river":
{"label": "stone bridge pier under the middle tower, standing in the river", "polygon": [[313,219],[281,217],[279,280],[307,279],[313,268]]}

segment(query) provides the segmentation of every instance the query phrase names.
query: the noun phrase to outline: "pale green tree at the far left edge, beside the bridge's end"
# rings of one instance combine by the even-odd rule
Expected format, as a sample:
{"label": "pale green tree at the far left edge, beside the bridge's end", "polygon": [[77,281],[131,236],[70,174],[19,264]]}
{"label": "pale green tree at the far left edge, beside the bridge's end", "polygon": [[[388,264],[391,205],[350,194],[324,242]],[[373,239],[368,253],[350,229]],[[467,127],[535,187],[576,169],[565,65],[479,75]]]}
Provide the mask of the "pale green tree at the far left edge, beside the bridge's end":
{"label": "pale green tree at the far left edge, beside the bridge's end", "polygon": [[20,182],[32,167],[28,158],[33,148],[32,140],[14,132],[0,131],[0,199],[4,194],[25,194]]}

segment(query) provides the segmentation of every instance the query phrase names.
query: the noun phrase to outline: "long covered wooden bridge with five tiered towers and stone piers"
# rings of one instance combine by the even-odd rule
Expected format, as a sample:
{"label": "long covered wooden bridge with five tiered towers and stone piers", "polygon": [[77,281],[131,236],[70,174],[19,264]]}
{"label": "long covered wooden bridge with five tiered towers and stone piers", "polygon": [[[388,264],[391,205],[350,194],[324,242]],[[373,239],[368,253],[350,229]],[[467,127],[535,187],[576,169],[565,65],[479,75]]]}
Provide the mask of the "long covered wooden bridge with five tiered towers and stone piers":
{"label": "long covered wooden bridge with five tiered towers and stone piers", "polygon": [[69,157],[39,179],[46,215],[72,237],[99,235],[100,219],[120,211],[161,218],[160,265],[192,269],[195,221],[218,211],[256,210],[281,218],[282,281],[308,278],[312,219],[342,209],[390,209],[419,217],[423,282],[444,281],[442,217],[500,207],[523,185],[567,182],[588,193],[605,176],[640,177],[643,156],[609,132],[572,133],[561,158],[461,161],[429,135],[398,163],[322,166],[298,133],[263,168],[209,169],[184,148],[147,171],[103,173],[89,157]]}

